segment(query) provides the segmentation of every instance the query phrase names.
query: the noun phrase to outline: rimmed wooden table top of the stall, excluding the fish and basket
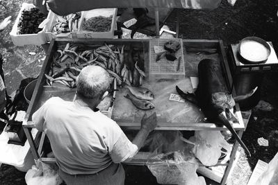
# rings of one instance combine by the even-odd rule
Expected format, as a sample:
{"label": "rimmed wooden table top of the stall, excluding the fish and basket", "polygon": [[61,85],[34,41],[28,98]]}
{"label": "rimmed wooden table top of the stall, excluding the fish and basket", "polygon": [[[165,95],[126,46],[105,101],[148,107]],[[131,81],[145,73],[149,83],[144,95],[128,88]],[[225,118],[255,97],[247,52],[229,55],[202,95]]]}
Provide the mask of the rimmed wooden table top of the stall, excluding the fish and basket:
{"label": "rimmed wooden table top of the stall, excluding the fish and basket", "polygon": [[[68,40],[65,40],[66,42],[64,42],[63,39],[61,40],[62,41],[55,41],[55,43],[63,42],[65,44],[70,42]],[[86,42],[87,44],[91,43],[90,40],[85,41],[83,39],[77,42]],[[95,42],[97,41],[92,39],[92,43]],[[106,42],[108,44],[127,44],[129,42],[133,42],[133,45],[142,45],[144,47],[144,55],[149,55],[147,52],[149,51],[147,48],[147,46],[149,46],[147,44],[149,39],[108,39],[101,42]],[[215,49],[215,53],[208,54],[202,51],[197,53],[191,52],[192,50],[190,49],[197,47],[199,47],[199,49]],[[158,114],[158,127],[156,127],[156,130],[227,130],[226,127],[218,127],[214,123],[206,123],[206,121],[204,121],[204,115],[196,105],[186,101],[184,103],[179,103],[169,100],[170,94],[177,94],[175,90],[176,85],[178,85],[183,91],[193,92],[193,87],[189,77],[197,76],[197,64],[203,58],[214,58],[215,60],[222,62],[225,67],[224,70],[227,72],[227,78],[229,78],[229,76],[231,77],[229,65],[227,64],[227,59],[224,56],[223,49],[224,47],[222,46],[222,42],[219,40],[183,40],[183,55],[186,60],[186,78],[179,80],[152,80],[146,78],[144,80],[143,87],[151,89],[155,96],[153,103],[156,105],[156,108],[151,111],[147,111],[147,113],[150,114],[151,112],[156,112],[156,114]],[[53,53],[54,51],[52,49],[51,53],[48,53],[49,60],[46,62],[51,62],[51,56]],[[149,74],[148,62],[149,58],[148,56],[145,56],[145,73],[147,76]],[[45,65],[47,66],[49,64]],[[46,70],[45,67],[44,70]],[[37,84],[35,88],[36,95],[32,98],[31,106],[28,108],[28,121],[31,121],[31,115],[33,112],[35,112],[35,110],[50,97],[60,96],[65,100],[72,100],[74,97],[74,89],[44,87],[44,73],[47,73],[47,71],[41,72],[38,80],[38,83],[40,84]],[[140,118],[142,118],[144,111],[136,109],[130,100],[124,98],[124,95],[126,95],[127,92],[128,90],[126,87],[120,87],[120,91],[117,91],[112,118],[122,127],[138,129],[140,128]],[[243,118],[240,114],[240,108],[238,105],[236,105],[236,116],[238,116],[239,123],[233,124],[235,130],[245,130],[245,125],[243,123]]]}

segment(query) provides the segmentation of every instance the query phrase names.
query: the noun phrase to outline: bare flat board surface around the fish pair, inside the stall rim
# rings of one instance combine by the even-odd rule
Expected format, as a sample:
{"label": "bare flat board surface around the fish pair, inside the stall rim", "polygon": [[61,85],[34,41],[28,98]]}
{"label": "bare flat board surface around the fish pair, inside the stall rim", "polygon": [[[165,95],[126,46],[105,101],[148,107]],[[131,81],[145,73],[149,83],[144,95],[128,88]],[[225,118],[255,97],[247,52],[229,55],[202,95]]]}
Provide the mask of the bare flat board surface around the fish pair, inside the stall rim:
{"label": "bare flat board surface around the fish pair, inside the stall rim", "polygon": [[189,102],[176,102],[169,100],[170,94],[177,94],[176,85],[186,91],[193,91],[189,78],[181,80],[154,80],[144,82],[142,87],[147,87],[154,93],[154,100],[152,103],[156,106],[152,110],[144,111],[136,108],[131,100],[124,98],[126,94],[130,94],[126,87],[118,91],[115,99],[115,110],[113,111],[113,119],[117,123],[121,122],[140,122],[143,114],[152,114],[156,112],[158,116],[158,123],[200,123],[204,118],[199,107]]}

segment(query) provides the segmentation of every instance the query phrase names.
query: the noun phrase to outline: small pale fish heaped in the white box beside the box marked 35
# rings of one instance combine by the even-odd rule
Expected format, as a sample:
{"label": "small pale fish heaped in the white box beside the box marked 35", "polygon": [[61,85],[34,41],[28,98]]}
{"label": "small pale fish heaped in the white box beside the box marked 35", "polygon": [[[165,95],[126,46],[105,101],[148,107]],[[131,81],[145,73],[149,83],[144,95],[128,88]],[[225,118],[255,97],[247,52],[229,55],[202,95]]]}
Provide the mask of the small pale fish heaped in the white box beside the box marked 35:
{"label": "small pale fish heaped in the white box beside the box marked 35", "polygon": [[66,16],[58,16],[56,18],[56,24],[54,24],[51,32],[56,35],[60,33],[76,32],[80,17],[81,13],[79,12]]}

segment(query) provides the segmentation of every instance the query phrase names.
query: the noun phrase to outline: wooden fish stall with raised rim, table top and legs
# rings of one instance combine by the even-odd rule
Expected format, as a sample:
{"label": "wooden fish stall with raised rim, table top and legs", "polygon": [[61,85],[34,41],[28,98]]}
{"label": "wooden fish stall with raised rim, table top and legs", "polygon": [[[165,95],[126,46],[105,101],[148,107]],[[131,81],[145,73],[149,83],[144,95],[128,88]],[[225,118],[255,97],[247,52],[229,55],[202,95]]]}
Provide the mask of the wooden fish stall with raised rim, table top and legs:
{"label": "wooden fish stall with raised rim, table top and legs", "polygon": [[[169,62],[162,64],[161,67],[167,69],[166,72],[155,71],[153,67],[160,65],[154,60],[156,58],[154,53],[154,46],[167,42],[170,39],[55,39],[52,40],[47,58],[44,61],[42,71],[38,78],[37,85],[33,92],[31,103],[26,113],[26,121],[24,121],[24,131],[31,146],[31,151],[35,159],[42,159],[42,161],[55,162],[54,158],[45,158],[43,143],[45,134],[42,133],[40,139],[40,145],[35,145],[35,140],[40,138],[40,134],[37,134],[37,138],[31,136],[30,127],[32,125],[32,114],[35,112],[48,98],[52,96],[59,96],[64,100],[72,100],[74,98],[74,89],[65,86],[47,85],[47,78],[45,73],[49,73],[51,64],[54,62],[54,54],[58,48],[65,47],[66,44],[75,44],[81,46],[83,49],[90,49],[94,46],[101,46],[106,44],[113,44],[113,46],[122,48],[124,46],[124,60],[132,61],[131,51],[136,49],[140,52],[141,60],[143,61],[146,78],[142,84],[143,87],[148,87],[154,92],[156,97],[153,103],[156,108],[147,111],[147,114],[156,112],[158,114],[158,126],[156,130],[227,130],[226,127],[217,127],[214,123],[207,123],[204,121],[204,115],[195,105],[188,102],[174,102],[169,100],[171,94],[177,94],[175,86],[179,85],[183,91],[193,91],[193,86],[190,82],[190,77],[197,77],[197,64],[204,58],[211,58],[218,60],[222,64],[222,69],[225,71],[225,78],[227,85],[231,87],[232,78],[231,70],[224,52],[224,46],[221,40],[198,40],[198,39],[177,39],[181,42],[181,56],[183,62],[181,67],[177,70],[176,62]],[[192,49],[198,49],[199,52],[192,51]],[[210,49],[213,53],[202,52]],[[167,76],[167,78],[165,78]],[[172,79],[169,79],[172,76]],[[113,96],[113,103],[108,110],[104,111],[104,114],[113,118],[124,131],[138,130],[140,128],[140,118],[144,111],[136,109],[129,100],[123,96],[126,94],[127,89],[122,87],[116,87],[119,91]],[[245,127],[246,121],[243,121],[240,107],[236,104],[236,116],[239,123],[234,123],[233,126],[241,137]],[[216,166],[227,166],[225,168],[222,177],[218,178],[221,184],[225,184],[227,177],[231,171],[231,168],[236,157],[238,149],[238,143],[235,142],[232,147],[231,154],[226,161],[219,161]],[[128,164],[133,165],[145,165],[150,152],[138,152],[136,157]],[[200,166],[202,164],[200,163]]]}

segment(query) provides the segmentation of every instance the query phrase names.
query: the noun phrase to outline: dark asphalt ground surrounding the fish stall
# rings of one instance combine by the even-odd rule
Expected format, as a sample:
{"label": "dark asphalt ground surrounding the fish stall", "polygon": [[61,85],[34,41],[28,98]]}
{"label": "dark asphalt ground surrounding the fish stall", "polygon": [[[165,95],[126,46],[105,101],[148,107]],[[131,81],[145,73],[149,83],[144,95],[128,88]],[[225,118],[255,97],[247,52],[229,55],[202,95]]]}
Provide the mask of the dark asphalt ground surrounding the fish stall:
{"label": "dark asphalt ground surrounding the fish stall", "polygon": [[[31,1],[0,1],[0,20],[12,16],[11,24],[0,33],[0,52],[5,58],[4,71],[8,93],[15,91],[20,81],[26,77],[38,76],[44,52],[40,46],[14,46],[11,42],[10,30],[13,26],[22,2]],[[222,39],[225,46],[238,43],[247,36],[257,36],[272,41],[278,51],[278,1],[277,0],[238,0],[234,7],[223,0],[215,10],[181,10],[181,25],[179,37],[183,39]],[[175,30],[175,14],[170,15],[166,24]],[[31,55],[30,52],[35,52]],[[270,111],[256,109],[253,111],[243,141],[252,152],[252,158],[247,158],[240,148],[240,158],[234,168],[229,184],[247,184],[247,181],[261,159],[269,162],[278,151],[275,145],[278,130],[278,74],[268,73],[263,78],[261,100],[272,105]],[[270,146],[259,146],[256,139],[263,136],[269,139]],[[147,167],[125,166],[126,184],[154,184],[155,179]],[[19,172],[13,166],[2,164],[0,168],[0,184],[24,184],[25,173]],[[210,183],[208,183],[210,184]]]}

